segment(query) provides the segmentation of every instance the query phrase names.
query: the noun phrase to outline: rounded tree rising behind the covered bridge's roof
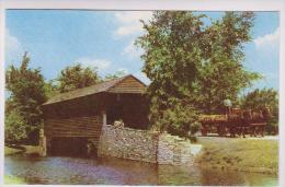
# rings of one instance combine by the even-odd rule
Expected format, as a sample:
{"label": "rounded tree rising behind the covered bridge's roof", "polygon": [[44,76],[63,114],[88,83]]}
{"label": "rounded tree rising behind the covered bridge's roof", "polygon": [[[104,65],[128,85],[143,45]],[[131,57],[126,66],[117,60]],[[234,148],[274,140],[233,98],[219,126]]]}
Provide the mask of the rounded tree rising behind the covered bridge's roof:
{"label": "rounded tree rising behind the covered bridge's roof", "polygon": [[101,81],[96,68],[83,68],[81,63],[66,67],[57,78],[60,93],[93,85]]}

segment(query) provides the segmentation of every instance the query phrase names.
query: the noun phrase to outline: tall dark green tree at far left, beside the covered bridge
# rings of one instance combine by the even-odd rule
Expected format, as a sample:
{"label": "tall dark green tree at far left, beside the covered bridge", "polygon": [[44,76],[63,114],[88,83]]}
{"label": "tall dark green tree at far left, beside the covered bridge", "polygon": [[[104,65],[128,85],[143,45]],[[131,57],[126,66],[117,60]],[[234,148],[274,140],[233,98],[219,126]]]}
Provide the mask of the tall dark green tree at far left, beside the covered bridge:
{"label": "tall dark green tree at far left, beside the covered bridge", "polygon": [[[22,129],[25,124],[29,142],[37,143],[43,115],[41,105],[46,101],[45,82],[41,70],[29,68],[29,63],[30,58],[25,52],[21,66],[19,68],[10,66],[5,72],[7,90],[11,93],[7,102],[9,106],[7,122],[9,126],[10,121],[19,119],[19,122],[13,125],[19,129]],[[16,128],[12,129],[16,130]]]}

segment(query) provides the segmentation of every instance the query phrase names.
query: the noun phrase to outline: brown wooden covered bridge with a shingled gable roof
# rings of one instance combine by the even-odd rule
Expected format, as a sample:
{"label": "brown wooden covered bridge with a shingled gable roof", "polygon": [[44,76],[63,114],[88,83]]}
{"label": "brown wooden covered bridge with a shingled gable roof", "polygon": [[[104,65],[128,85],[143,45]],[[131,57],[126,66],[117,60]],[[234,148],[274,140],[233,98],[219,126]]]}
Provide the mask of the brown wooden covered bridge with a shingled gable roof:
{"label": "brown wooden covered bridge with a shingled gable roof", "polygon": [[126,127],[146,129],[146,85],[134,75],[55,95],[43,104],[47,154],[82,154],[87,143],[99,143],[103,125],[123,120]]}

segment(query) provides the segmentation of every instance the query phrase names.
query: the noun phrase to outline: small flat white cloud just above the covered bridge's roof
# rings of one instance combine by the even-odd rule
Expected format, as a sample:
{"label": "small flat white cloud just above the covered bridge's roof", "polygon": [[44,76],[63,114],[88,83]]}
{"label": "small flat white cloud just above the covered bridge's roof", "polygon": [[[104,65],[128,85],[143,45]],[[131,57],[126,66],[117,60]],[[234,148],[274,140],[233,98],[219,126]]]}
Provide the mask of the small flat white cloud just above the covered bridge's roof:
{"label": "small flat white cloud just above the covered bridge's roof", "polygon": [[96,67],[99,71],[106,70],[111,66],[111,61],[106,59],[92,59],[89,57],[82,57],[76,60],[86,67]]}

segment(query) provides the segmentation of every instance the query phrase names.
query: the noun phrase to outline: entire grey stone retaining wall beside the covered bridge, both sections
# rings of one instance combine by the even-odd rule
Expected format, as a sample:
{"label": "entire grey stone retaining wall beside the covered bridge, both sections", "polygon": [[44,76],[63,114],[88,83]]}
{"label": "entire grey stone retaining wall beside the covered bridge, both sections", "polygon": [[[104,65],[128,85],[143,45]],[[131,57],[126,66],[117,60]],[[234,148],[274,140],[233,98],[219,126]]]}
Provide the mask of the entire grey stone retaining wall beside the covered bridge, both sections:
{"label": "entire grey stone retaining wall beside the covered bridge, both sections", "polygon": [[168,165],[192,165],[198,152],[197,147],[176,136],[110,125],[103,126],[98,149],[99,156]]}

